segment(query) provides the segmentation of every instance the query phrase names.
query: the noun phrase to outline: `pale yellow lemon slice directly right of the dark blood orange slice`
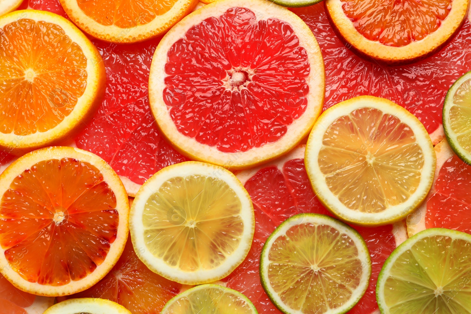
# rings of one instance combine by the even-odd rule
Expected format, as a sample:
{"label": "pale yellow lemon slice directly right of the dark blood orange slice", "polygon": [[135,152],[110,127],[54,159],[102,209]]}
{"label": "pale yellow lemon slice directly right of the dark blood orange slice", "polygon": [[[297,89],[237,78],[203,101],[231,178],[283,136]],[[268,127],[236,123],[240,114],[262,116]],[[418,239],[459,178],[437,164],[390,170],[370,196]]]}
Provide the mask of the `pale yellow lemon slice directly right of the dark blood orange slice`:
{"label": "pale yellow lemon slice directly right of the dark blood orange slice", "polygon": [[254,226],[252,201],[234,174],[197,161],[150,177],[130,213],[138,257],[155,273],[184,284],[230,274],[247,255]]}

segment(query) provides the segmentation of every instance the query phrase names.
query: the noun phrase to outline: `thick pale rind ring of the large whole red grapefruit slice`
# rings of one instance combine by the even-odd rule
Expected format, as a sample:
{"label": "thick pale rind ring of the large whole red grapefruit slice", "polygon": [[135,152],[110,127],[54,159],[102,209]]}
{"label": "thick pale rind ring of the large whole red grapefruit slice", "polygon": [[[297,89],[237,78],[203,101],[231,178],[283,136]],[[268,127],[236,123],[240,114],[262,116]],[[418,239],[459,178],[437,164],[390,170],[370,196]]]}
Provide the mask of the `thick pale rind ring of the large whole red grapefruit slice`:
{"label": "thick pale rind ring of the large whole red grapefruit slice", "polygon": [[[252,148],[247,152],[224,153],[214,146],[198,143],[195,139],[181,134],[172,121],[167,105],[163,101],[165,88],[165,63],[171,46],[193,25],[211,16],[220,16],[228,8],[244,7],[251,9],[257,19],[278,18],[289,23],[298,36],[300,46],[308,52],[310,64],[308,106],[305,112],[288,127],[286,134],[277,142]],[[287,153],[308,135],[319,116],[325,96],[324,61],[317,40],[309,27],[286,8],[274,5],[268,0],[218,0],[204,6],[183,18],[160,41],[155,49],[149,74],[149,104],[157,122],[157,127],[166,139],[180,153],[197,161],[209,162],[231,170],[245,169],[276,159]]]}

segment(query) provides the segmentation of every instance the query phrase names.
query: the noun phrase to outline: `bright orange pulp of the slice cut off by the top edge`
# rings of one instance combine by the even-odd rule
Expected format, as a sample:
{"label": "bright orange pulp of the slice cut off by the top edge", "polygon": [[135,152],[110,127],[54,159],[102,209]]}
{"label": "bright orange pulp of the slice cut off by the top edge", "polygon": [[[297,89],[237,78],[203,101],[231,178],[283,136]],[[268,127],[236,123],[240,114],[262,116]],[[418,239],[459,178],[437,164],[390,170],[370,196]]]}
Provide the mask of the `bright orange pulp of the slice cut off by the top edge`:
{"label": "bright orange pulp of the slice cut off by the top edge", "polygon": [[136,27],[151,22],[156,16],[169,11],[177,0],[78,0],[79,8],[102,25],[120,28]]}

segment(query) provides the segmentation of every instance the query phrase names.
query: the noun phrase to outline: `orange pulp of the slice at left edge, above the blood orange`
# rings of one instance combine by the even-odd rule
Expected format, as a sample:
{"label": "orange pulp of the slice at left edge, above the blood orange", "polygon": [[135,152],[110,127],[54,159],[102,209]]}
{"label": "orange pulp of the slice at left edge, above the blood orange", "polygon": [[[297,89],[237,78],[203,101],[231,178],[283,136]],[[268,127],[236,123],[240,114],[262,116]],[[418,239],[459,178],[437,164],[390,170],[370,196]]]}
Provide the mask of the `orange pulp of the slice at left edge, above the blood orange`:
{"label": "orange pulp of the slice at left edge, above the blood orange", "polygon": [[87,86],[87,59],[57,24],[22,18],[0,30],[2,133],[54,128]]}

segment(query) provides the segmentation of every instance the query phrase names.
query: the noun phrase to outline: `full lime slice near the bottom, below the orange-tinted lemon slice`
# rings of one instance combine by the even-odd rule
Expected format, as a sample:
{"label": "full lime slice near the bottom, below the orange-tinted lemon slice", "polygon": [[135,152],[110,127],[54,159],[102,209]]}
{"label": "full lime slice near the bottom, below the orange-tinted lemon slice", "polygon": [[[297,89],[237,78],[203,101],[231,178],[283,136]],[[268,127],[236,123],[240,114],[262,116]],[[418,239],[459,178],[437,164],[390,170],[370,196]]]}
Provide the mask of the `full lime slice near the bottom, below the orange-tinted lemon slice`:
{"label": "full lime slice near the bottom, below the orange-tinted lemon slice", "polygon": [[262,286],[285,314],[346,313],[365,293],[370,275],[370,254],[361,235],[320,214],[285,220],[260,257]]}

